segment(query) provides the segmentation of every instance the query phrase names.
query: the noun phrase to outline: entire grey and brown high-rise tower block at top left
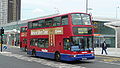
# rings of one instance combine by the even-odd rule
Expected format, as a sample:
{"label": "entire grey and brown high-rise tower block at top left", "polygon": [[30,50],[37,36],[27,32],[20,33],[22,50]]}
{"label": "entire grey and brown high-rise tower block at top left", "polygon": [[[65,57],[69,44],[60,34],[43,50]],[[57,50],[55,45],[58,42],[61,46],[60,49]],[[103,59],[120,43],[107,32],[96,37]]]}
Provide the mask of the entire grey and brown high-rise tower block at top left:
{"label": "entire grey and brown high-rise tower block at top left", "polygon": [[0,0],[0,25],[20,20],[21,0]]}

